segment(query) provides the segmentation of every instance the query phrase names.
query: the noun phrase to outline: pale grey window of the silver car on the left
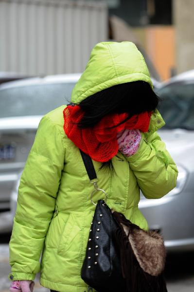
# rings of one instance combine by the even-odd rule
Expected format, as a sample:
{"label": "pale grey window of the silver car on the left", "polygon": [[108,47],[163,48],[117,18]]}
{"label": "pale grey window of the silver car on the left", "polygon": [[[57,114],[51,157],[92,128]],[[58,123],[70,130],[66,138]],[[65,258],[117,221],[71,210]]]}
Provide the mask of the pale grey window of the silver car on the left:
{"label": "pale grey window of the silver car on the left", "polygon": [[75,83],[54,83],[6,88],[0,91],[0,118],[44,115],[69,103]]}

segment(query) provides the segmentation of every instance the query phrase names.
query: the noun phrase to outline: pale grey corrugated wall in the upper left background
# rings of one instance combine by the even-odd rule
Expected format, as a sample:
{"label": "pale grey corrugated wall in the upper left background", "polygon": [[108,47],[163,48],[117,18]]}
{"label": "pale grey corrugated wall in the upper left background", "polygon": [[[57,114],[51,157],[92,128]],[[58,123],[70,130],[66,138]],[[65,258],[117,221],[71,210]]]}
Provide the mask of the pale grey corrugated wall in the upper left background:
{"label": "pale grey corrugated wall in the upper left background", "polygon": [[104,2],[0,0],[0,71],[82,72],[92,47],[106,39]]}

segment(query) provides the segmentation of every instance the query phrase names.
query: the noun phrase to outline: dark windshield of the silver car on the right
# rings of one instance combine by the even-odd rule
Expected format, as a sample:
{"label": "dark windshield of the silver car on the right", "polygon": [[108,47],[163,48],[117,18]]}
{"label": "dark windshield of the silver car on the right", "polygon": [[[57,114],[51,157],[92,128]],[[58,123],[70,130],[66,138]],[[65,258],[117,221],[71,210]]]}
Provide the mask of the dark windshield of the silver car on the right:
{"label": "dark windshield of the silver car on the right", "polygon": [[159,112],[165,128],[194,130],[194,83],[178,82],[156,92],[161,98]]}

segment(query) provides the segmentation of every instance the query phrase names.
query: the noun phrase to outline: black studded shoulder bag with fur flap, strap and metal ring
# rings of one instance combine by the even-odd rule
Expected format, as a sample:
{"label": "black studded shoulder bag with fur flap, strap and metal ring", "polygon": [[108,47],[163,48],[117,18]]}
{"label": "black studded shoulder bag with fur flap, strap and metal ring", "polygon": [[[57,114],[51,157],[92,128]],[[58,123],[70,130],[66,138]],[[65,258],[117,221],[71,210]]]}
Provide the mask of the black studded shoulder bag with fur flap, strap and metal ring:
{"label": "black studded shoulder bag with fur flap, strap and metal ring", "polygon": [[[97,186],[91,158],[81,152],[94,191]],[[106,199],[97,202],[89,230],[82,279],[98,292],[167,292],[163,275],[165,247],[157,232],[142,230],[111,210]]]}

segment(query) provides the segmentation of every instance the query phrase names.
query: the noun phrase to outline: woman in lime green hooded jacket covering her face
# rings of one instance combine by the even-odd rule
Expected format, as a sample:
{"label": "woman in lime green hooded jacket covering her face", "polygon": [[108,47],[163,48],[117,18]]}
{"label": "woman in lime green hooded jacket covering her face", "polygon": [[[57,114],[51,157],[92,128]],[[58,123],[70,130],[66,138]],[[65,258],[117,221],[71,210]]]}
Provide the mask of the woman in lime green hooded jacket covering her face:
{"label": "woman in lime green hooded jacket covering her face", "polygon": [[[164,121],[152,88],[133,43],[102,42],[74,87],[73,104],[42,118],[19,185],[10,240],[12,292],[32,291],[39,271],[40,283],[51,290],[89,289],[80,271],[95,206],[79,148],[93,159],[108,206],[148,229],[138,210],[140,189],[159,199],[177,177],[156,132]],[[94,199],[102,199],[101,193]]]}

